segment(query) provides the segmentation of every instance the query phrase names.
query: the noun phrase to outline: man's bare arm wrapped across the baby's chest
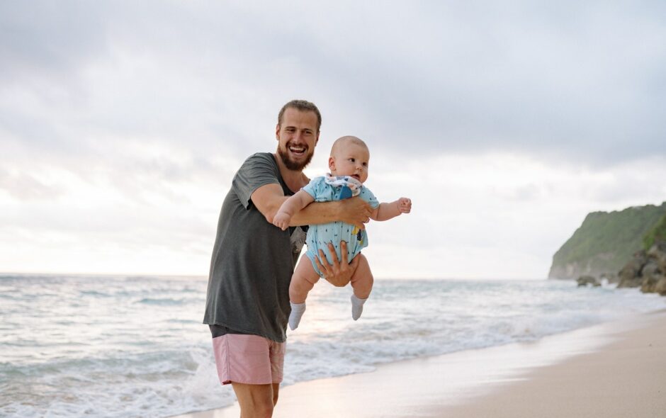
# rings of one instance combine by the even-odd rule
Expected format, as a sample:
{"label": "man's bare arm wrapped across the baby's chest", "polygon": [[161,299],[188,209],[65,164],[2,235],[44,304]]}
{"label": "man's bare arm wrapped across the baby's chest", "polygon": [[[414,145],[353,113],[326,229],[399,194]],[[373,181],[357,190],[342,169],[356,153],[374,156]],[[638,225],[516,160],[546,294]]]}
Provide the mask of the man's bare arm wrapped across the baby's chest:
{"label": "man's bare arm wrapped across the baby's chest", "polygon": [[[252,193],[252,203],[264,215],[266,220],[273,223],[276,213],[288,199],[277,183],[266,184]],[[372,208],[361,198],[338,200],[336,202],[315,202],[305,206],[294,213],[289,225],[314,225],[327,222],[342,221],[364,229],[364,222],[368,222]]]}

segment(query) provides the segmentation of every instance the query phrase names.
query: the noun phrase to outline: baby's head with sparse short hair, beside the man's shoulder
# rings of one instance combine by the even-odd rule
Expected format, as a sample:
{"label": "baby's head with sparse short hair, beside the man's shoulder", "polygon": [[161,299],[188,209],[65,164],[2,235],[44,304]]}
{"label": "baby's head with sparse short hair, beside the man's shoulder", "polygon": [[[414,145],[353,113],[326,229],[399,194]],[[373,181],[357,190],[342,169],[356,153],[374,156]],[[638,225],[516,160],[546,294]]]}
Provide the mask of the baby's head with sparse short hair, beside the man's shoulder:
{"label": "baby's head with sparse short hair, beside the man's shoulder", "polygon": [[333,142],[328,166],[334,176],[352,176],[365,183],[368,179],[370,150],[365,142],[357,137],[340,137]]}

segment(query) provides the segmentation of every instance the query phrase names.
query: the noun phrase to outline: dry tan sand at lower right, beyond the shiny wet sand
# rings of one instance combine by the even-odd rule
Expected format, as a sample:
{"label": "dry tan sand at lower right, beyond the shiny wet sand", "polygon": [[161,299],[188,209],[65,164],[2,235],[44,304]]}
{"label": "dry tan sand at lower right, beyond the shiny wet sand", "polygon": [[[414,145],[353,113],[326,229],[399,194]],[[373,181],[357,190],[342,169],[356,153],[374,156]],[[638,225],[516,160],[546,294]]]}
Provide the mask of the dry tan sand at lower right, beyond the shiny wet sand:
{"label": "dry tan sand at lower right, beyond the shiny wet sand", "polygon": [[439,408],[432,416],[664,417],[666,310],[633,318],[606,323],[610,340],[597,350],[533,369],[475,402]]}

